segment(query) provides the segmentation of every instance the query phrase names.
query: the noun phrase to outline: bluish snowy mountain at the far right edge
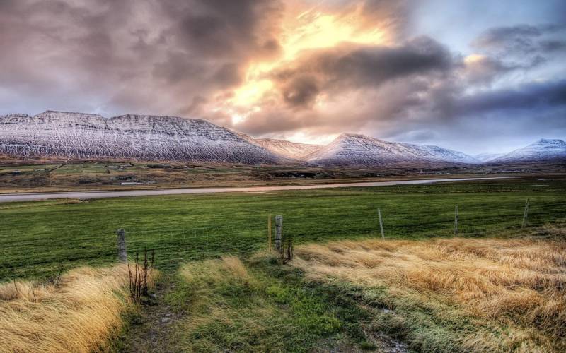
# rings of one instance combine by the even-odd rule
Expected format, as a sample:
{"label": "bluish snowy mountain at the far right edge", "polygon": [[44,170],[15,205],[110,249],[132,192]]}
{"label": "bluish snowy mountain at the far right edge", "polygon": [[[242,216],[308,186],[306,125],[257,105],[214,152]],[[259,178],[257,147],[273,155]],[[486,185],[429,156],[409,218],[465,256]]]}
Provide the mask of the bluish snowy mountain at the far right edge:
{"label": "bluish snowy mountain at the far right edge", "polygon": [[566,160],[566,142],[563,140],[541,140],[531,143],[524,148],[519,148],[507,155],[490,160],[490,163],[509,162],[544,162],[553,160]]}

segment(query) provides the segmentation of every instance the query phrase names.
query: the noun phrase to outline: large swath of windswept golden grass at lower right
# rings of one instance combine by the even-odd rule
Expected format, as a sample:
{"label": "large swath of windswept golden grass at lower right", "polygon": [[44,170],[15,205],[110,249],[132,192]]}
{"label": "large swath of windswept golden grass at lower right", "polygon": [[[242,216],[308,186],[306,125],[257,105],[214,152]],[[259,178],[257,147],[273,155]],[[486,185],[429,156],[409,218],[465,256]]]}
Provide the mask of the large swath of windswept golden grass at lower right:
{"label": "large swath of windswept golden grass at lower right", "polygon": [[[564,229],[550,232],[556,237],[310,244],[293,264],[314,280],[385,288],[393,313],[414,305],[451,322],[460,349],[550,352],[566,349],[566,242]],[[471,332],[458,327],[468,319]]]}

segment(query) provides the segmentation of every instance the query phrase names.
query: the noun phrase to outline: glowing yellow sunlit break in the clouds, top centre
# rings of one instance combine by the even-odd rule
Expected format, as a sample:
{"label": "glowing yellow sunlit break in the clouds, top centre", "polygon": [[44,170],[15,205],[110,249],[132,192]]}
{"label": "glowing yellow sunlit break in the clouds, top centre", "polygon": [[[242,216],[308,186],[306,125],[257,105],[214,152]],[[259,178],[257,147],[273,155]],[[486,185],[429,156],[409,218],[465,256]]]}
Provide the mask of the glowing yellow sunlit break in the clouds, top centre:
{"label": "glowing yellow sunlit break in the clouds, top centre", "polygon": [[[271,58],[251,59],[243,83],[233,90],[229,100],[216,100],[215,109],[233,116],[237,125],[246,117],[262,109],[265,100],[277,100],[277,83],[273,74],[318,49],[337,47],[342,43],[383,45],[391,44],[392,35],[388,21],[368,21],[363,3],[350,6],[342,11],[320,6],[306,8],[304,4],[287,4],[280,23],[279,55]],[[290,93],[292,95],[292,92]],[[285,97],[292,100],[293,97]],[[324,102],[318,102],[323,105]]]}

